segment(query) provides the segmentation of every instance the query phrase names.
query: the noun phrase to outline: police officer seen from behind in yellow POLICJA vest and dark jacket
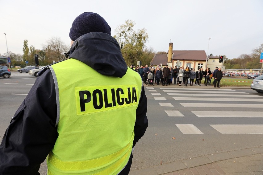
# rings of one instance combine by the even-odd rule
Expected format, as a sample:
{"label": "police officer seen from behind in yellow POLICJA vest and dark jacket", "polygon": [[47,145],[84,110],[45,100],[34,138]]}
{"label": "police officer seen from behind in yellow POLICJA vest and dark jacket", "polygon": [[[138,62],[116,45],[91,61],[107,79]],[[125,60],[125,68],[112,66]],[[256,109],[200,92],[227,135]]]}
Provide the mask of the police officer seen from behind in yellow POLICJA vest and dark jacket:
{"label": "police officer seen from behind in yellow POLICJA vest and dark jacket", "polygon": [[[0,174],[128,174],[148,127],[140,75],[100,15],[79,15],[69,59],[39,73],[0,145]],[[78,75],[76,77],[76,75]]]}

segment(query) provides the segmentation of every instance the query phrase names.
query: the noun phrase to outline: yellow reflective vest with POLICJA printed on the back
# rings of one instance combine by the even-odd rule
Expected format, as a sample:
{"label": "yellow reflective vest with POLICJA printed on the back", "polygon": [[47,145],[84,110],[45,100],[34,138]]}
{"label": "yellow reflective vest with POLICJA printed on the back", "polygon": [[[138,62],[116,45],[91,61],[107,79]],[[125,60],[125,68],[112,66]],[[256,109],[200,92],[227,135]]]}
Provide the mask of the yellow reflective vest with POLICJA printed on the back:
{"label": "yellow reflective vest with POLICJA printed on the back", "polygon": [[118,174],[134,139],[140,75],[101,75],[76,59],[49,67],[56,87],[57,132],[48,155],[48,174]]}

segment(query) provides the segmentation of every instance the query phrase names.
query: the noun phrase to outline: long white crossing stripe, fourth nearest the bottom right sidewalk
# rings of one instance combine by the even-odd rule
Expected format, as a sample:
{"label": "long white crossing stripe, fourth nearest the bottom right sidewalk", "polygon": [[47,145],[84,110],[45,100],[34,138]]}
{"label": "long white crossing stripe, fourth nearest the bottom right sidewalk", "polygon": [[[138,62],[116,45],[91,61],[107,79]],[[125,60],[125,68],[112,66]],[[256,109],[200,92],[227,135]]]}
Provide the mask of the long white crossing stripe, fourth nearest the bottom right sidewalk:
{"label": "long white crossing stripe, fourth nearest the bottom right sidewalk", "polygon": [[[174,100],[188,100],[188,101],[253,101],[263,102],[263,99],[241,99],[241,98],[195,98],[195,97],[173,97]],[[220,106],[220,104],[218,104]]]}

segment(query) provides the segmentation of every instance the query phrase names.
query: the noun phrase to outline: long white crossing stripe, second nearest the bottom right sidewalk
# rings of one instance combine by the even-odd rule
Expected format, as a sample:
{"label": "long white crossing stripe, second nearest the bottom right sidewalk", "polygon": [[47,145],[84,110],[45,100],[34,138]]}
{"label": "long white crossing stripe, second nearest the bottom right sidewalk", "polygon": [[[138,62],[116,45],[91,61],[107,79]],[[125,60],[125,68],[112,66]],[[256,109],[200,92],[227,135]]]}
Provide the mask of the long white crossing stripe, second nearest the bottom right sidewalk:
{"label": "long white crossing stripe, second nearest the bottom right sidewalk", "polygon": [[191,111],[198,117],[263,117],[263,112],[253,111]]}

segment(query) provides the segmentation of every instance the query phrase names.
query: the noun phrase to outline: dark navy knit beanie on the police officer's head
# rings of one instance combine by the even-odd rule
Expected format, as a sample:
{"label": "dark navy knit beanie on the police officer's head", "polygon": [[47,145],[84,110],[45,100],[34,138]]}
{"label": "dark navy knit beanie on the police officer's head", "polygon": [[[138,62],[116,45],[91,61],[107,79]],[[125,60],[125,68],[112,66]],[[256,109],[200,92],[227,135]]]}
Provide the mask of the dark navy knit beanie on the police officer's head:
{"label": "dark navy knit beanie on the police officer's head", "polygon": [[111,35],[111,27],[99,14],[84,12],[73,21],[69,38],[75,41],[81,35],[90,32],[103,32]]}

